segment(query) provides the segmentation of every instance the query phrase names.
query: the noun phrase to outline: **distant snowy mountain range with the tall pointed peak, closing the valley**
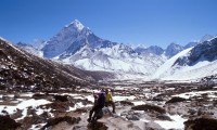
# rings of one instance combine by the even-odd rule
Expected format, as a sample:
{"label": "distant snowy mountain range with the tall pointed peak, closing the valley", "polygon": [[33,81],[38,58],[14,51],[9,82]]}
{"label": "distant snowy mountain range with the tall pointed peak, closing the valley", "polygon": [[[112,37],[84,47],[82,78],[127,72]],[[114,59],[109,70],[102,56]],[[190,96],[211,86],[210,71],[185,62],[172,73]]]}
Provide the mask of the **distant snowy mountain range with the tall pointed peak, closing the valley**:
{"label": "distant snowy mountain range with the tall pointed peak, closing the valley", "polygon": [[[132,49],[124,43],[112,42],[95,36],[89,27],[75,20],[48,41],[37,43],[37,46],[42,44],[40,49],[36,48],[35,43],[31,47],[24,43],[17,43],[17,46],[46,58],[74,65],[86,70],[111,72],[122,77],[140,75],[148,78],[162,78],[168,74],[168,72],[161,70],[164,64],[167,64],[168,61],[174,60],[174,56],[176,56],[180,63],[174,61],[176,62],[173,63],[174,66],[175,64],[181,66],[181,63],[187,65],[187,61],[181,62],[179,53],[192,48],[196,49],[201,44],[208,44],[207,40],[212,38],[215,37],[206,35],[201,40],[189,42],[184,47],[173,42],[166,49],[157,46]],[[174,66],[170,66],[174,73],[169,73],[169,75],[176,74],[177,69]],[[166,74],[163,75],[157,72]]]}

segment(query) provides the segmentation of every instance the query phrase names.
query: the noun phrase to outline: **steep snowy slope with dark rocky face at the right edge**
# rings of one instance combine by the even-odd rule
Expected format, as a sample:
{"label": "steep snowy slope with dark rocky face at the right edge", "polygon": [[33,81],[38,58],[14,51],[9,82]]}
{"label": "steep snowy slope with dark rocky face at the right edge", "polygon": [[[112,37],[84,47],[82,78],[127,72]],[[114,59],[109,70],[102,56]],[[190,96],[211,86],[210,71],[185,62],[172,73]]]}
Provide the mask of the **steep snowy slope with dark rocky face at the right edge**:
{"label": "steep snowy slope with dark rocky face at the right edge", "polygon": [[153,75],[163,80],[196,80],[217,74],[217,38],[207,39],[166,61]]}

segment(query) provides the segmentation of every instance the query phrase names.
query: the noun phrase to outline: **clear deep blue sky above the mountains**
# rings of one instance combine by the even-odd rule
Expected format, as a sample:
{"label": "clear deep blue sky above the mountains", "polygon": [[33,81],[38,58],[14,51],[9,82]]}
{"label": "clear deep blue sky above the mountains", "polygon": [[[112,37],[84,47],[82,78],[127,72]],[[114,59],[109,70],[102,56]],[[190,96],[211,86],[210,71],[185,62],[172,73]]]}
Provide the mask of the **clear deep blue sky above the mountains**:
{"label": "clear deep blue sky above the mountains", "polygon": [[217,0],[1,0],[0,36],[48,40],[79,20],[99,37],[128,44],[187,44],[217,35]]}

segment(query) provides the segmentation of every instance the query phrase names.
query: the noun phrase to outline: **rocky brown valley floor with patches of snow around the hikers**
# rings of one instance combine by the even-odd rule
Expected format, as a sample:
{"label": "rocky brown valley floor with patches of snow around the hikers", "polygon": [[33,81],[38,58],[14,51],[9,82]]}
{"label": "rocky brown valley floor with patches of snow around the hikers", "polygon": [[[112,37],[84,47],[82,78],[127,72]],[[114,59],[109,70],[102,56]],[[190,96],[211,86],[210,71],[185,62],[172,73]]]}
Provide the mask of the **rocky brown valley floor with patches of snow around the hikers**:
{"label": "rocky brown valley floor with patches of snow around the hikers", "polygon": [[[16,130],[216,130],[217,86],[192,82],[110,81],[56,92],[0,92],[0,127]],[[110,87],[116,114],[87,118],[93,91]]]}

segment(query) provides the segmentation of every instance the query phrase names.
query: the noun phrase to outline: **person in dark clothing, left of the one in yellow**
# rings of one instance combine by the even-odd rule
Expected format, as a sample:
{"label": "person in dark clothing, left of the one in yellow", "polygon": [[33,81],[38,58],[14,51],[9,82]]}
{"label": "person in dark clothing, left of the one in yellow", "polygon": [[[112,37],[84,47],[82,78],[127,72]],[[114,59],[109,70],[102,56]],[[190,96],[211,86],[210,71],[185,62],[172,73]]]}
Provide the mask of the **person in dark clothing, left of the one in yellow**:
{"label": "person in dark clothing, left of the one in yellow", "polygon": [[[105,105],[105,95],[103,90],[100,93],[93,93],[93,96],[94,105],[92,106],[92,109],[89,113],[89,122],[94,122],[103,116],[102,108]],[[93,113],[94,115],[92,116]]]}

